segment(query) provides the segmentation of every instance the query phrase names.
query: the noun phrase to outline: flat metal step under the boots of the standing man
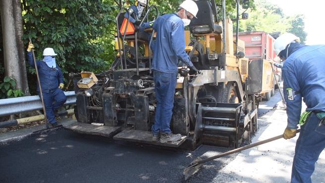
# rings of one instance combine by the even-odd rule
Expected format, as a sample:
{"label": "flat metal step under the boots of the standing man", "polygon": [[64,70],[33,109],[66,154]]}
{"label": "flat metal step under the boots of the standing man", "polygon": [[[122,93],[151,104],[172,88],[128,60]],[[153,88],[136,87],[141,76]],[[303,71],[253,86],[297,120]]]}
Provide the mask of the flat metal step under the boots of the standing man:
{"label": "flat metal step under the boots of the standing man", "polygon": [[152,141],[152,132],[144,131],[144,130],[135,130],[135,129],[127,129],[123,130],[120,133],[116,134],[113,139],[115,140],[125,140],[131,142],[140,142],[145,144],[166,146],[166,147],[179,147],[186,139],[186,136],[182,136],[180,141],[173,143],[160,143]]}

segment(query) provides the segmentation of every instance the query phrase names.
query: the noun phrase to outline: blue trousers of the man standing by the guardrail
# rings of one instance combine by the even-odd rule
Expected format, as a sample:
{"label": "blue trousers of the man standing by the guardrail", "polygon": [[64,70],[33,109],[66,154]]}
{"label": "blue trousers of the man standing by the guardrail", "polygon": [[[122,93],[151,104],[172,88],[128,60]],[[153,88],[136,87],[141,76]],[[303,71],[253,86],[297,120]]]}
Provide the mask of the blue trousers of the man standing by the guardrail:
{"label": "blue trousers of the man standing by the guardrail", "polygon": [[[41,97],[40,92],[39,96]],[[50,123],[56,122],[54,112],[65,103],[64,92],[59,88],[51,89],[49,92],[43,92],[43,99],[48,121]]]}

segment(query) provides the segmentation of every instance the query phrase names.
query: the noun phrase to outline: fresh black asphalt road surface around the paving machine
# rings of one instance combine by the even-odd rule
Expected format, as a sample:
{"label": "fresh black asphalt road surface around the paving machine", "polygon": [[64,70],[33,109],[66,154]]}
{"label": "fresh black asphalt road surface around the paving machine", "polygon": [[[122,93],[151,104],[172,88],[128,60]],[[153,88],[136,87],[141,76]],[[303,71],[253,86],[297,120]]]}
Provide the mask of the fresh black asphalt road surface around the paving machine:
{"label": "fresh black asphalt road surface around the paving machine", "polygon": [[[280,101],[278,92],[259,115]],[[0,146],[0,183],[184,183],[183,170],[197,156],[228,148],[202,145],[195,151],[113,141],[58,130]],[[235,155],[208,162],[187,183],[209,183]]]}

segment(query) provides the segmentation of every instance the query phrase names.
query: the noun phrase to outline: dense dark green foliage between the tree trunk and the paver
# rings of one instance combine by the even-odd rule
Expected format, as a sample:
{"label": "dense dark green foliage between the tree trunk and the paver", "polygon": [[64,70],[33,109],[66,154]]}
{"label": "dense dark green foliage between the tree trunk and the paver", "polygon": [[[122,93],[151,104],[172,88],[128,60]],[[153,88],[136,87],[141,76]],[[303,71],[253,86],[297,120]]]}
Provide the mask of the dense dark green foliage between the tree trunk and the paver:
{"label": "dense dark green foliage between the tree trunk and the paver", "polygon": [[109,60],[99,39],[107,34],[116,8],[102,0],[23,0],[24,42],[32,38],[38,59],[45,48],[53,48],[64,73],[101,71]]}

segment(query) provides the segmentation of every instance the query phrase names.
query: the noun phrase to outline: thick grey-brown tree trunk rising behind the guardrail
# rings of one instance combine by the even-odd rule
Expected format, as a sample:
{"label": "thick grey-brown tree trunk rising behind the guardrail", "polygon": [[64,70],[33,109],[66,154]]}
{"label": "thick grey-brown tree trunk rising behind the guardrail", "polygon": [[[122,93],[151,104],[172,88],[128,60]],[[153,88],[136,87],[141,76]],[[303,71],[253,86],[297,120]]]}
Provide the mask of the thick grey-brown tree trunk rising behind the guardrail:
{"label": "thick grey-brown tree trunk rising behind the guardrail", "polygon": [[21,0],[0,0],[5,75],[17,81],[17,89],[29,94],[22,41]]}

